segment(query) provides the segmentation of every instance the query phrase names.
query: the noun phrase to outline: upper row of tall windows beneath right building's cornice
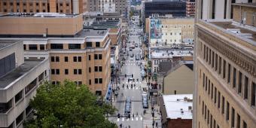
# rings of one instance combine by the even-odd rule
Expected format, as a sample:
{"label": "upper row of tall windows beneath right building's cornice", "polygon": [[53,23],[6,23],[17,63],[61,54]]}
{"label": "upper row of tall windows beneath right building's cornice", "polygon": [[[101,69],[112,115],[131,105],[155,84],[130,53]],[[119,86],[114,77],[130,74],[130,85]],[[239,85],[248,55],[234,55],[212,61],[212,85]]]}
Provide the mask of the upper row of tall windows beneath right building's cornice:
{"label": "upper row of tall windows beneath right building's cornice", "polygon": [[205,44],[200,44],[200,50],[203,52],[203,59],[230,87],[248,101],[248,104],[255,108],[256,105],[256,84],[249,80],[248,76],[243,75],[242,71],[231,66],[224,58]]}

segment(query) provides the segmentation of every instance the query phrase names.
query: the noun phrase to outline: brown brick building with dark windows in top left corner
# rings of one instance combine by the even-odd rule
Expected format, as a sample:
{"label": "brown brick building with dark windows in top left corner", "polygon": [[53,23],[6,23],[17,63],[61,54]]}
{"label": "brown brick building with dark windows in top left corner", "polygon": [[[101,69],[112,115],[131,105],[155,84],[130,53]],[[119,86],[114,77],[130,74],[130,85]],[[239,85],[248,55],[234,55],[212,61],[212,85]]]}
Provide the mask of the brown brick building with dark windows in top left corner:
{"label": "brown brick building with dark windows in top left corner", "polygon": [[83,14],[88,11],[87,6],[87,0],[2,0],[0,14],[39,12]]}

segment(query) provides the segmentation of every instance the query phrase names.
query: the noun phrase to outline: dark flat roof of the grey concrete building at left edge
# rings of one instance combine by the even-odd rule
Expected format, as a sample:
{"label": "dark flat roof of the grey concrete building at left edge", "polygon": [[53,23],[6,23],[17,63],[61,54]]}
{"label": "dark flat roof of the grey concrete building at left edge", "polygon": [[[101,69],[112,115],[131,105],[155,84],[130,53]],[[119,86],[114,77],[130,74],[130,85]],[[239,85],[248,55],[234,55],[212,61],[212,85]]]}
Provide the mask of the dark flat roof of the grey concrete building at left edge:
{"label": "dark flat roof of the grey concrete building at left edge", "polygon": [[9,72],[3,78],[0,78],[0,89],[5,89],[5,87],[8,87],[9,84],[25,75],[35,66],[38,66],[38,64],[42,61],[44,61],[44,59],[25,59],[21,66],[17,67],[12,72]]}

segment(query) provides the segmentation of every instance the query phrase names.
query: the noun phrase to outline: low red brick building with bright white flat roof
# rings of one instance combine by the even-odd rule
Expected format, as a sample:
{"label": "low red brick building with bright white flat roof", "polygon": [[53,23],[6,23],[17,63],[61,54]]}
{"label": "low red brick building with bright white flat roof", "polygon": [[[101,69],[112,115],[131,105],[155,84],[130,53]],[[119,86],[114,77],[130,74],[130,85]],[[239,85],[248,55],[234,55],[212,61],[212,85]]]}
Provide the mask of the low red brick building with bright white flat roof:
{"label": "low red brick building with bright white flat roof", "polygon": [[192,128],[192,94],[160,96],[163,128]]}

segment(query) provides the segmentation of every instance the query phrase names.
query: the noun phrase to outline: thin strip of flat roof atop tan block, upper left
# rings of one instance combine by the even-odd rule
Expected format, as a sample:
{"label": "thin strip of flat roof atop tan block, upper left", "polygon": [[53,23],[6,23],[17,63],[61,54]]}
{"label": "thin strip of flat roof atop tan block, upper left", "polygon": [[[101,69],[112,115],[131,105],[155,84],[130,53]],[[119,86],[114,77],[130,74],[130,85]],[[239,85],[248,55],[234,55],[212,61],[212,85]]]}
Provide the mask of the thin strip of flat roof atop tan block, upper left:
{"label": "thin strip of flat roof atop tan block, upper left", "polygon": [[0,17],[47,17],[47,18],[56,18],[56,17],[62,17],[62,18],[70,18],[70,17],[76,17],[78,14],[59,14],[59,13],[9,13],[9,14],[3,14],[0,15]]}

